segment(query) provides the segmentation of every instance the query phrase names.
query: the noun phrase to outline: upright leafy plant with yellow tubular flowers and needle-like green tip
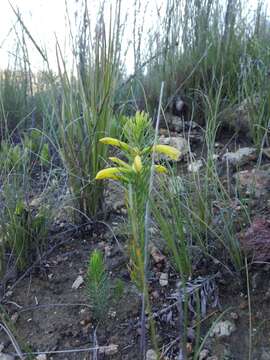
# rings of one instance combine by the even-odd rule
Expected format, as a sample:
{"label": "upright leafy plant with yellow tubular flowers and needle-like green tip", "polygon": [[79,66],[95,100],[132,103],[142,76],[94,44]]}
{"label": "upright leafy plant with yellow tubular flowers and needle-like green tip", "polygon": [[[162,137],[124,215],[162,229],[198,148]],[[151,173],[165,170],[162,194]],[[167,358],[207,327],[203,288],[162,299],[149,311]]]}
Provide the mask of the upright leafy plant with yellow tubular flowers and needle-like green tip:
{"label": "upright leafy plant with yellow tubular flowers and needle-like green tip", "polygon": [[[178,160],[180,152],[168,145],[153,144],[154,134],[151,120],[144,112],[137,112],[134,117],[127,119],[123,134],[126,142],[104,137],[99,141],[105,145],[112,145],[122,151],[127,161],[118,157],[110,157],[115,165],[100,170],[96,180],[112,179],[119,181],[126,189],[127,209],[130,220],[132,241],[130,243],[130,272],[133,281],[139,289],[144,285],[144,257],[145,257],[145,211],[149,198],[149,179],[152,170],[152,159],[155,153],[167,155],[172,160]],[[154,164],[157,173],[167,173],[164,165]]]}

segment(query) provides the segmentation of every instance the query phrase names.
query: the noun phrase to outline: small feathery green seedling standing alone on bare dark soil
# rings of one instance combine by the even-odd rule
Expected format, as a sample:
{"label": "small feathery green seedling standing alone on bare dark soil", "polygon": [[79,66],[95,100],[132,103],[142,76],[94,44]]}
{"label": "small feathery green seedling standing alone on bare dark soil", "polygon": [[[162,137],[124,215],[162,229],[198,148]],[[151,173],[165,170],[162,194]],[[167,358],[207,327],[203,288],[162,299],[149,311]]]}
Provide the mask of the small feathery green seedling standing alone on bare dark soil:
{"label": "small feathery green seedling standing alone on bare dark soil", "polygon": [[88,262],[87,292],[93,315],[97,320],[106,316],[109,303],[109,280],[102,253],[94,250]]}

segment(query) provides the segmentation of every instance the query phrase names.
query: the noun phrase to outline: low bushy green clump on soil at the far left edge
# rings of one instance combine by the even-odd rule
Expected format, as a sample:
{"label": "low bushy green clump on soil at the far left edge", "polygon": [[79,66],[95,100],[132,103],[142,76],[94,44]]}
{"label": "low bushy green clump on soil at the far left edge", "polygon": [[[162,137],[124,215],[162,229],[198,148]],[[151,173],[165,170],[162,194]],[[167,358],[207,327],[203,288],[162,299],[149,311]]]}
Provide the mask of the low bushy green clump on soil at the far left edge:
{"label": "low bushy green clump on soil at the far left edge", "polygon": [[10,253],[11,262],[19,271],[29,266],[42,252],[52,218],[51,208],[44,198],[38,206],[34,206],[26,200],[22,186],[21,182],[16,183],[15,176],[10,176],[10,181],[3,186],[1,200],[4,207],[0,214],[3,254]]}

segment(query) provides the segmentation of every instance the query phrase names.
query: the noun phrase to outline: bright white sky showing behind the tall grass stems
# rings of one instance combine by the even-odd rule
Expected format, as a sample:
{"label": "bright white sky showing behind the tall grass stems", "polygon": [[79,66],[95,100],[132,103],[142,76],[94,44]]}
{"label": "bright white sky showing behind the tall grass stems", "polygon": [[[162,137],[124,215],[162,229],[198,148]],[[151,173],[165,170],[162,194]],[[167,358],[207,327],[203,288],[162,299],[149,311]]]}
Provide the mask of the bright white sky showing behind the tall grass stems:
{"label": "bright white sky showing behind the tall grass stems", "polygon": [[[16,32],[14,31],[14,25],[16,25],[16,16],[11,9],[10,3],[14,8],[18,8],[22,14],[22,18],[27,25],[30,33],[34,35],[37,43],[46,48],[50,63],[52,67],[56,67],[55,58],[55,37],[61,44],[62,50],[68,44],[67,41],[67,16],[65,2],[68,4],[69,13],[74,19],[74,13],[78,10],[79,2],[77,0],[0,0],[0,69],[8,66],[14,59],[15,44],[17,42]],[[111,0],[112,3],[115,0]],[[162,3],[162,0],[141,0],[142,4],[147,1],[154,7],[157,3]],[[257,0],[250,0],[253,5]],[[270,0],[269,2],[270,7]],[[95,14],[97,11],[97,5],[99,0],[89,0],[89,10],[91,14]],[[133,0],[123,0],[124,12],[130,12],[130,4]],[[127,5],[129,4],[129,5]],[[94,15],[93,15],[94,16]],[[151,23],[152,18],[149,16],[146,19],[147,23]],[[132,26],[128,22],[129,26]],[[20,31],[20,27],[16,26],[17,31]],[[127,32],[131,32],[127,29]],[[128,36],[127,36],[128,38]],[[29,54],[32,64],[32,70],[39,70],[43,67],[43,61],[38,55],[37,51],[29,44]],[[132,59],[131,59],[132,62]]]}

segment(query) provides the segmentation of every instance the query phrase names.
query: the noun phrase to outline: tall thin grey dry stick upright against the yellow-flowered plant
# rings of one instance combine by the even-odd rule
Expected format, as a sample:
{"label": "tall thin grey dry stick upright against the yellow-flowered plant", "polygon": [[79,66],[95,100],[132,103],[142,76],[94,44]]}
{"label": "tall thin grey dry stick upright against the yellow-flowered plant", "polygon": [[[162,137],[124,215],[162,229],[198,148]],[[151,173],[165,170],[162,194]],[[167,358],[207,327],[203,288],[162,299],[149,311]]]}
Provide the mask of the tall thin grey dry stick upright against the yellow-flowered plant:
{"label": "tall thin grey dry stick upright against the yellow-flowered plant", "polygon": [[[158,115],[157,115],[157,122],[156,122],[156,129],[155,129],[155,138],[154,138],[154,146],[157,144],[158,140],[158,129],[159,129],[159,122],[160,122],[160,111],[161,111],[161,103],[164,91],[164,81],[161,83],[160,89],[160,97],[159,97],[159,105],[158,105]],[[148,244],[149,244],[149,219],[150,219],[150,204],[149,199],[153,189],[153,180],[154,180],[154,165],[155,165],[155,151],[152,154],[152,164],[151,164],[151,173],[150,173],[150,180],[149,180],[149,189],[148,189],[148,199],[146,202],[146,209],[145,209],[145,235],[144,235],[144,289],[142,295],[142,312],[141,312],[141,354],[142,359],[145,359],[146,355],[146,331],[145,331],[145,309],[146,309],[146,292],[147,292],[147,268],[148,268]]]}

